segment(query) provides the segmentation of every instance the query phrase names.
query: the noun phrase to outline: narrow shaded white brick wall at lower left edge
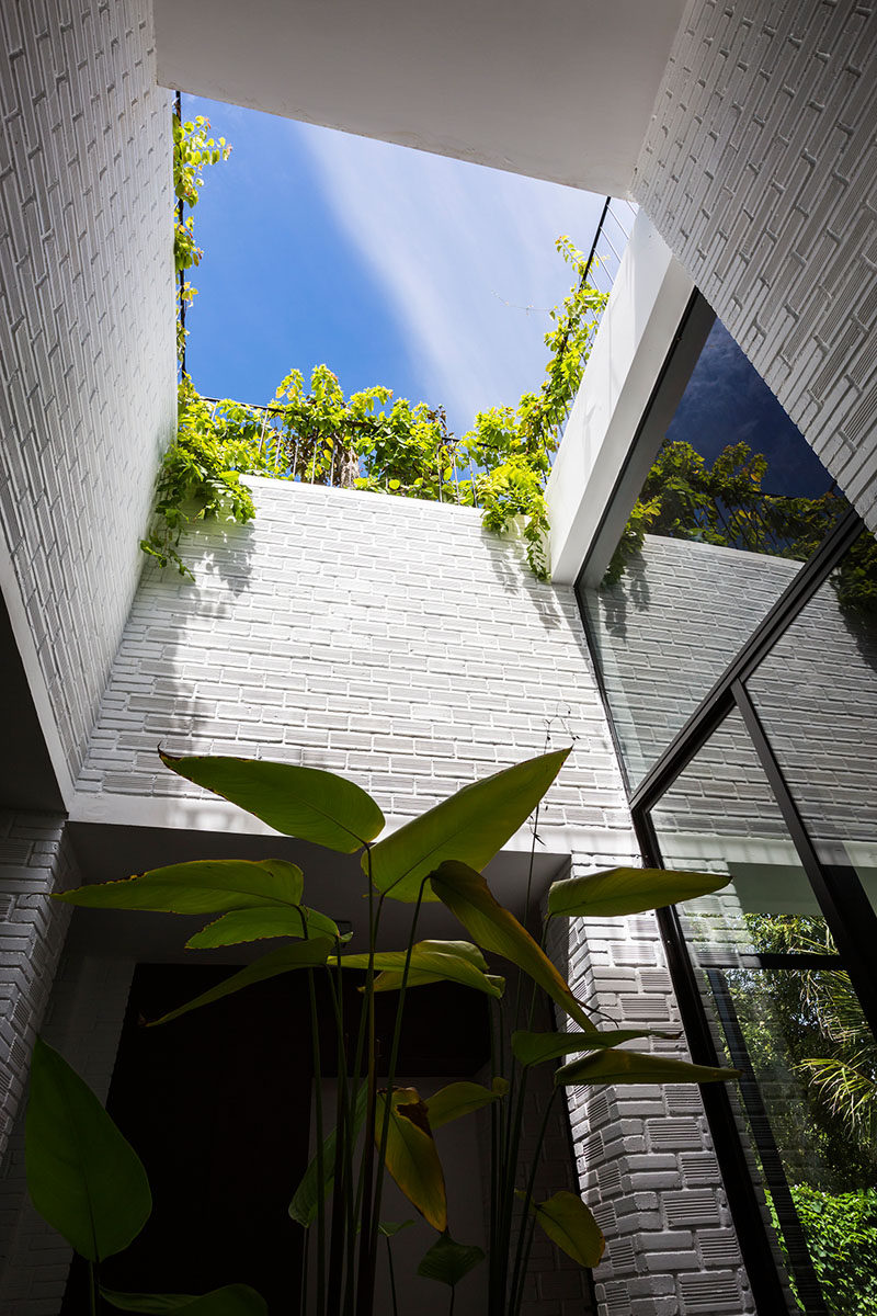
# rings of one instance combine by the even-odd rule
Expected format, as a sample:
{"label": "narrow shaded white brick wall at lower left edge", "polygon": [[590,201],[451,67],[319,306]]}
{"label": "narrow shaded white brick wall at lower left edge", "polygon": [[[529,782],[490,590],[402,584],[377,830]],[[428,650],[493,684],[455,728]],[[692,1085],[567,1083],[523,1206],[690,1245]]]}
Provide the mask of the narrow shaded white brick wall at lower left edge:
{"label": "narrow shaded white brick wall at lower left edge", "polygon": [[70,923],[49,892],[78,880],[62,817],[0,813],[0,1159]]}

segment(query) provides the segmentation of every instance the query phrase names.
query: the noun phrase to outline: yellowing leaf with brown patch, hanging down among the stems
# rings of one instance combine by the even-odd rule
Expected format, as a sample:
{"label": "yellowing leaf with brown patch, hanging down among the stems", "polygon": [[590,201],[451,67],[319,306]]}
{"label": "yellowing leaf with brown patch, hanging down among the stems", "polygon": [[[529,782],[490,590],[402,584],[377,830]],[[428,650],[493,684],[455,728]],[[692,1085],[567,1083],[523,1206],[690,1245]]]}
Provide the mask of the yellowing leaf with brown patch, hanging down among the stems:
{"label": "yellowing leaf with brown patch, hanging down among the stems", "polygon": [[[380,1146],[387,1095],[377,1096],[375,1141]],[[413,1087],[393,1090],[387,1136],[387,1169],[413,1207],[443,1233],[447,1229],[444,1174],[435,1150],[426,1105]]]}

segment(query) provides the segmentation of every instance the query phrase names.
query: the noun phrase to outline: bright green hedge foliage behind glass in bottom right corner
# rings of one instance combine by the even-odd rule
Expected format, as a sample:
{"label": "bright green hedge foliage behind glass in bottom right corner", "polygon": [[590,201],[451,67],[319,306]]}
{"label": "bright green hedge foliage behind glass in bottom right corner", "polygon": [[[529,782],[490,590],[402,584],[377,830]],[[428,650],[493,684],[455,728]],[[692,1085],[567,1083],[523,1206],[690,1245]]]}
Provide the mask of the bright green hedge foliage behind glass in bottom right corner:
{"label": "bright green hedge foliage behind glass in bottom right corner", "polygon": [[[826,1192],[806,1184],[790,1191],[828,1316],[877,1316],[877,1191]],[[768,1205],[785,1253],[769,1196]],[[799,1299],[798,1305],[803,1309]]]}

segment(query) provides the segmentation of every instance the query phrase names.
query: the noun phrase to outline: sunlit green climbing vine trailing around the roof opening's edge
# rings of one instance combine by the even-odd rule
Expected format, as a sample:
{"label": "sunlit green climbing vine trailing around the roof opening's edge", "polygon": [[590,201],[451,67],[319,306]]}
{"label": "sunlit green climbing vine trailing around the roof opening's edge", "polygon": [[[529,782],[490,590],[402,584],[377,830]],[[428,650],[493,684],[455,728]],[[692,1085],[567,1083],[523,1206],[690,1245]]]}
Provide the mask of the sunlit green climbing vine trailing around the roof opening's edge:
{"label": "sunlit green climbing vine trailing around the roof opening's edge", "polygon": [[[175,224],[178,272],[197,266],[192,216],[205,166],[226,159],[225,138],[208,137],[209,122],[174,121],[174,182],[181,203]],[[544,483],[568,408],[588,359],[605,295],[585,282],[586,261],[567,237],[557,250],[575,283],[551,312],[544,342],[551,353],[536,392],[517,407],[479,412],[462,438],[448,432],[444,411],[393,397],[376,384],[344,396],[327,366],[312,371],[308,387],[292,370],[271,408],[226,400],[208,404],[184,375],[179,396],[179,432],[164,455],[151,533],[141,546],[162,566],[189,574],[179,551],[183,530],[199,519],[245,522],[255,515],[242,474],[309,480],[426,500],[477,505],[486,529],[519,526],[527,561],[539,579],[548,576],[548,517]],[[184,309],[195,290],[180,279],[178,349],[185,343]],[[460,471],[468,471],[460,478]]]}

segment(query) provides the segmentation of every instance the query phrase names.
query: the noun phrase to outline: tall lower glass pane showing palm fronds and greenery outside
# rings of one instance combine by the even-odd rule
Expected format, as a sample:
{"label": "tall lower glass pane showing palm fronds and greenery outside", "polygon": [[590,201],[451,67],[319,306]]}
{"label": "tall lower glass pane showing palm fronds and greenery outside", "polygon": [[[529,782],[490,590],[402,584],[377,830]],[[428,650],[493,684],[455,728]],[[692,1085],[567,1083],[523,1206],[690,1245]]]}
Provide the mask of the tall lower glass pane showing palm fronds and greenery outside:
{"label": "tall lower glass pane showing palm fronds and greenery outside", "polygon": [[877,1048],[738,713],[652,820],[667,866],[731,879],[680,916],[778,1262],[801,1311],[865,1316],[872,1242],[844,1240],[855,1216],[877,1246]]}

